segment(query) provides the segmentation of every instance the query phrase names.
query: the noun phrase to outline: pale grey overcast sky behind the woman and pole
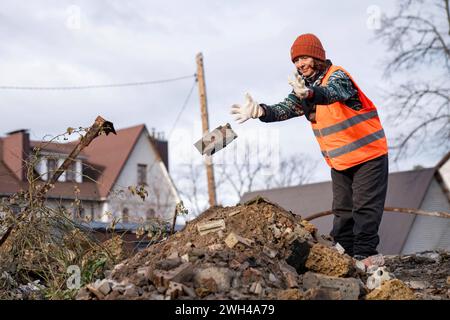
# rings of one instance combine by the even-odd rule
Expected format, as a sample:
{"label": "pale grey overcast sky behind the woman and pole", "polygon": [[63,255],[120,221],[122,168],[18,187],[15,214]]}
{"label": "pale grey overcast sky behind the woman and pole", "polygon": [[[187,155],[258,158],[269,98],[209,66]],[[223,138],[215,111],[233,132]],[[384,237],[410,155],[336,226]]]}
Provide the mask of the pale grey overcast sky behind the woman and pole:
{"label": "pale grey overcast sky behind the woman and pole", "polygon": [[[281,101],[290,92],[289,50],[302,33],[314,33],[334,64],[347,69],[378,106],[389,139],[393,128],[381,90],[388,52],[374,40],[380,14],[395,2],[384,1],[8,1],[0,4],[0,85],[71,86],[151,81],[193,75],[195,56],[205,62],[210,127],[230,122],[239,138],[269,133],[282,156],[307,153],[318,162],[315,181],[328,180],[309,123],[295,118],[274,124],[237,125],[233,103],[250,92],[258,102]],[[78,91],[0,90],[0,134],[30,129],[31,138],[89,126],[97,115],[116,128],[144,123],[166,137],[193,85],[178,82]],[[275,133],[274,133],[275,132]],[[171,170],[200,161],[192,144],[201,137],[197,87],[170,136]],[[272,139],[273,140],[273,139]],[[392,166],[432,166],[442,151]]]}

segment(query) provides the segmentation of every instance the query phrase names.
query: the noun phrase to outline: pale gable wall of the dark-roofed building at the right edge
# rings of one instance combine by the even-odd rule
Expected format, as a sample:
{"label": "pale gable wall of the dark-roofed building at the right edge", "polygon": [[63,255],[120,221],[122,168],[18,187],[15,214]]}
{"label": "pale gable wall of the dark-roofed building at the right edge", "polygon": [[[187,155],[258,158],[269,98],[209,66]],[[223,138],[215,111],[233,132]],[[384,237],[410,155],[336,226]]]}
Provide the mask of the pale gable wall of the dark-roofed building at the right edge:
{"label": "pale gable wall of the dark-roofed building at the right edge", "polygon": [[[447,197],[435,179],[432,180],[420,209],[450,212]],[[450,250],[450,219],[416,216],[402,253],[436,249]]]}

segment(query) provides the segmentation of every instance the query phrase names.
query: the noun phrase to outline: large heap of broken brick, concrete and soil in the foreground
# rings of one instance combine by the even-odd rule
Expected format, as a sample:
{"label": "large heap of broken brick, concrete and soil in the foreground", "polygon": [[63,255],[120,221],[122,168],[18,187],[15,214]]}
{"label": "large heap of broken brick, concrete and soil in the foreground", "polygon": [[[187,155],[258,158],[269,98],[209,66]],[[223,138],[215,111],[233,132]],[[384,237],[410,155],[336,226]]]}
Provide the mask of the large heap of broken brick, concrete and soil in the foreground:
{"label": "large heap of broken brick, concrete and soil in the foreground", "polygon": [[426,298],[401,279],[386,267],[367,270],[311,223],[256,198],[210,208],[81,288],[77,299]]}

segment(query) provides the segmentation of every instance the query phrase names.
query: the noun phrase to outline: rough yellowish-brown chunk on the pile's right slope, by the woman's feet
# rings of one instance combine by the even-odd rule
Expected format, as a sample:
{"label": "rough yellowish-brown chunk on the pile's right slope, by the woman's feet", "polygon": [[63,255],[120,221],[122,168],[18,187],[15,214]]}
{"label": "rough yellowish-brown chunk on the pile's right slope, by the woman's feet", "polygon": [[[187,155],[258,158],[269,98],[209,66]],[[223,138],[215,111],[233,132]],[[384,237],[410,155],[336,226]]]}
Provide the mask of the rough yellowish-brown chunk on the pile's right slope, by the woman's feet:
{"label": "rough yellowish-brown chunk on the pile's right slope, by the woman's feet", "polygon": [[306,260],[306,267],[328,276],[344,277],[353,271],[353,261],[348,255],[341,255],[332,248],[315,244]]}

